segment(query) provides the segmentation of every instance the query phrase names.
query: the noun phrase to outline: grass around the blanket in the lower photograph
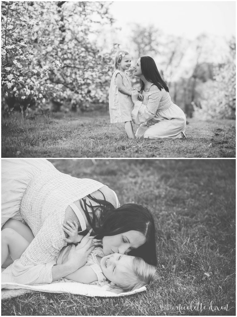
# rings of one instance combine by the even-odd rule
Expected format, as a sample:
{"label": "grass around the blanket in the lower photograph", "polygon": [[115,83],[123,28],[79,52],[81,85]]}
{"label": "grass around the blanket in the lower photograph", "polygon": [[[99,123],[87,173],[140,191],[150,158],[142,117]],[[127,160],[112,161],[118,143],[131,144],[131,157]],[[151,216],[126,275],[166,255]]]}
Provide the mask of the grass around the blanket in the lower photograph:
{"label": "grass around the blanket in the lower photograph", "polygon": [[206,308],[181,308],[184,315],[235,315],[235,159],[51,161],[107,184],[121,204],[153,208],[160,279],[121,298],[24,294],[3,300],[2,315],[182,316],[191,301]]}

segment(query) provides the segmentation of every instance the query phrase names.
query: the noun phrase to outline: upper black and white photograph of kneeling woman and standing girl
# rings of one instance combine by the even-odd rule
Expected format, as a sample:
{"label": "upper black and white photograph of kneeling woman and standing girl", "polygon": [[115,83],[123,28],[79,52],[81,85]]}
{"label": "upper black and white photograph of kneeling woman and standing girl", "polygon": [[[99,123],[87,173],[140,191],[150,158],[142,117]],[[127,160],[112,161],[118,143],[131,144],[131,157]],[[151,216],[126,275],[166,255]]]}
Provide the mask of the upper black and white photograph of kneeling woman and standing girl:
{"label": "upper black and white photograph of kneeling woman and standing girl", "polygon": [[2,2],[2,157],[235,158],[235,2]]}

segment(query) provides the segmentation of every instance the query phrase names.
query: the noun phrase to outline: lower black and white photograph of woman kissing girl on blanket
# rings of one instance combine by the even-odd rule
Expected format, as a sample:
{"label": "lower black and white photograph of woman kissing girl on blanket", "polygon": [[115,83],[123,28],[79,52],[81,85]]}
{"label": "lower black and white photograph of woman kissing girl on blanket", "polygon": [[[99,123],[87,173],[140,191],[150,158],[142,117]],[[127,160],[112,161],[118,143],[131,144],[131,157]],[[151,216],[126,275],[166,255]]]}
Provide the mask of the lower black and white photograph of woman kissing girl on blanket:
{"label": "lower black and white photograph of woman kissing girl on blanket", "polygon": [[2,159],[1,248],[2,315],[235,315],[235,160]]}

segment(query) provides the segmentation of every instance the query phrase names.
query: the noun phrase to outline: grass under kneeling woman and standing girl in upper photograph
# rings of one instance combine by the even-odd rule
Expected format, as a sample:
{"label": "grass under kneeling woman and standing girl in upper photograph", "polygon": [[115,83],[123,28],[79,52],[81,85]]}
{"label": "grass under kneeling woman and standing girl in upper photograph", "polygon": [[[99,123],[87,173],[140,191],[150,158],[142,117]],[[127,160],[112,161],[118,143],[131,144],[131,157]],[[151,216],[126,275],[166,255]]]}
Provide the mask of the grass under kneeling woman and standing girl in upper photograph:
{"label": "grass under kneeling woman and standing girl in upper photograph", "polygon": [[[2,157],[234,158],[235,121],[189,119],[187,139],[128,139],[99,112],[2,120]],[[138,126],[134,126],[136,131]]]}

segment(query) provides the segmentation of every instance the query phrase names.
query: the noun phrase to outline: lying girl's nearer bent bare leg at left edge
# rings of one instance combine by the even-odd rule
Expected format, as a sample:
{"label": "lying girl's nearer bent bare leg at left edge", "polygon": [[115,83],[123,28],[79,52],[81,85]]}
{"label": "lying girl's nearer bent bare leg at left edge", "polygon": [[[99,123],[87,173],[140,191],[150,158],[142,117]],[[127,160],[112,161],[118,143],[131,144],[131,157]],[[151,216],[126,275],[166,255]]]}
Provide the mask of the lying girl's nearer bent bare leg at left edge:
{"label": "lying girl's nearer bent bare leg at left edge", "polygon": [[13,261],[19,259],[30,244],[23,236],[11,228],[5,228],[1,232],[1,265],[5,262],[8,254]]}

